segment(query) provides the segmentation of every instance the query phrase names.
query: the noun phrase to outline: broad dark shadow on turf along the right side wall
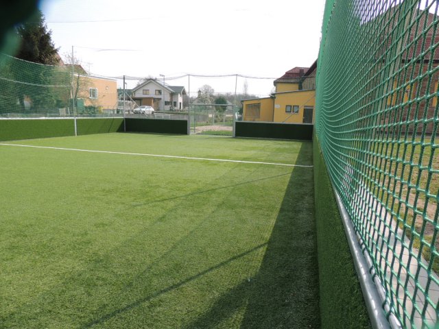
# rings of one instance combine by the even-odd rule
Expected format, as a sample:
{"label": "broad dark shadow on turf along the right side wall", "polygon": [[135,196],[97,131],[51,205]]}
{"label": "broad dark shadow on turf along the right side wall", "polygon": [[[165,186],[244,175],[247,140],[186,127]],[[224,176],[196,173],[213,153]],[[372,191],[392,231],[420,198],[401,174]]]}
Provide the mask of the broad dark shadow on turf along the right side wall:
{"label": "broad dark shadow on turf along the right side wall", "polygon": [[[311,162],[311,147],[300,149],[298,162]],[[261,268],[219,297],[211,309],[185,329],[215,328],[246,312],[239,328],[320,328],[313,172],[294,168]]]}

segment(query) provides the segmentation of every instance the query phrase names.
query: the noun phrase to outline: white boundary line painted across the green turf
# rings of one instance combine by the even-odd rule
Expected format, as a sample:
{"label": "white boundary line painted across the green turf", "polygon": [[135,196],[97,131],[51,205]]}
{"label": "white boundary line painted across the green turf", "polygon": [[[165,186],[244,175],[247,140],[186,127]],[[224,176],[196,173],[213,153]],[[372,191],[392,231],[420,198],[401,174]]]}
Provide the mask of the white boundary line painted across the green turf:
{"label": "white boundary line painted across the green turf", "polygon": [[313,167],[313,166],[309,166],[309,165],[305,165],[305,164],[286,164],[286,163],[275,163],[275,162],[227,160],[227,159],[213,159],[213,158],[193,158],[191,156],[164,156],[161,154],[129,153],[129,152],[116,152],[116,151],[97,151],[97,150],[93,150],[93,149],[69,149],[66,147],[36,146],[36,145],[9,144],[9,143],[0,143],[0,145],[19,146],[19,147],[34,147],[36,149],[62,149],[64,151],[80,151],[80,152],[91,152],[91,153],[126,154],[129,156],[155,156],[158,158],[174,158],[174,159],[185,159],[185,160],[237,162],[237,163],[250,163],[250,164],[270,164],[272,166],[285,166],[285,167],[304,167],[304,168],[312,168]]}

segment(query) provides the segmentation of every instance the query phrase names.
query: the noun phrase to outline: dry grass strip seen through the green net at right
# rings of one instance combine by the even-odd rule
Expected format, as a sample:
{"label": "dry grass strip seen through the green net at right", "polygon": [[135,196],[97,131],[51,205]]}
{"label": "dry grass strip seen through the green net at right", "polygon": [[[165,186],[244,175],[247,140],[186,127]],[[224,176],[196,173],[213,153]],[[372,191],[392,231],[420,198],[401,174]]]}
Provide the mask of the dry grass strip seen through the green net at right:
{"label": "dry grass strip seen through the green net at right", "polygon": [[[435,139],[436,136],[407,135],[390,143],[377,141],[372,144],[370,151],[374,156],[369,156],[368,162],[375,166],[374,171],[379,172],[380,178],[372,186],[372,192],[393,210],[389,216],[398,223],[403,234],[413,240],[412,246],[421,250],[427,263],[434,253],[431,268],[438,274],[439,236],[433,241],[434,232],[439,228],[435,220],[439,191]],[[436,245],[434,250],[432,245]]]}

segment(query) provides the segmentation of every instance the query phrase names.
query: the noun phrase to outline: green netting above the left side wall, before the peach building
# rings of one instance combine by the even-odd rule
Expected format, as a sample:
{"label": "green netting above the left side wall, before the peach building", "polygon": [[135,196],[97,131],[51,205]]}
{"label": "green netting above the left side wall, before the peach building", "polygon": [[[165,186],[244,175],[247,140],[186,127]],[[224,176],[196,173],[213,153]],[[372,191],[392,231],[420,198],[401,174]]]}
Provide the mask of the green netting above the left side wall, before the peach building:
{"label": "green netting above the left side wall, before the peach building", "polygon": [[117,80],[0,53],[0,118],[121,117]]}

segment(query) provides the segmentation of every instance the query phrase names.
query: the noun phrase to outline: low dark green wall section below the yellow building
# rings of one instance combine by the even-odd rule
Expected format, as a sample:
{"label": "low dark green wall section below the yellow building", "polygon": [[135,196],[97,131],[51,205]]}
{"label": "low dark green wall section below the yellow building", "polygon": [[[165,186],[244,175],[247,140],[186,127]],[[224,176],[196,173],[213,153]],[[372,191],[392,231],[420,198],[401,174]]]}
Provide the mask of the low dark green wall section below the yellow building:
{"label": "low dark green wall section below the yellow building", "polygon": [[236,121],[235,136],[311,141],[313,138],[313,125],[298,123]]}

